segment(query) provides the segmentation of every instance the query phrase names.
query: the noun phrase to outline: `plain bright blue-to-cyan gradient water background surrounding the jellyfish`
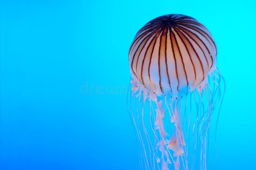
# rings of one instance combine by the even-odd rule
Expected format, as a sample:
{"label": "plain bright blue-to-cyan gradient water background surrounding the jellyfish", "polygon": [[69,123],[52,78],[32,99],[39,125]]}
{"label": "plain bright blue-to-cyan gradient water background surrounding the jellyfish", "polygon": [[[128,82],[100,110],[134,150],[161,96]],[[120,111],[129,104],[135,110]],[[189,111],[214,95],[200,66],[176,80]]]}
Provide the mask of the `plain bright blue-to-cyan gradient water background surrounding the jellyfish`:
{"label": "plain bright blue-to-cyan gradient water background surrounding the jellyfish", "polygon": [[[227,82],[219,169],[256,169],[254,1],[0,1],[0,169],[138,169],[125,94],[146,22],[192,16],[212,33]],[[215,148],[213,148],[215,149]]]}

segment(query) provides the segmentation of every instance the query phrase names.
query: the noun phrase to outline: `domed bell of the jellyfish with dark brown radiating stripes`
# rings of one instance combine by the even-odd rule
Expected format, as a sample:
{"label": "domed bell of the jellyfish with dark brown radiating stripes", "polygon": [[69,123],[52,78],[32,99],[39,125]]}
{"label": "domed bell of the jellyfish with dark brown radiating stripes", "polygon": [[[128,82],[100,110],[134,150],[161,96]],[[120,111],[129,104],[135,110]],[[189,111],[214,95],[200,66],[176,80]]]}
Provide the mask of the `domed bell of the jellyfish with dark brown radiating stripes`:
{"label": "domed bell of the jellyfish with dark brown radiating stripes", "polygon": [[210,32],[196,19],[164,15],[149,21],[129,50],[132,78],[145,87],[191,92],[216,69],[217,49]]}

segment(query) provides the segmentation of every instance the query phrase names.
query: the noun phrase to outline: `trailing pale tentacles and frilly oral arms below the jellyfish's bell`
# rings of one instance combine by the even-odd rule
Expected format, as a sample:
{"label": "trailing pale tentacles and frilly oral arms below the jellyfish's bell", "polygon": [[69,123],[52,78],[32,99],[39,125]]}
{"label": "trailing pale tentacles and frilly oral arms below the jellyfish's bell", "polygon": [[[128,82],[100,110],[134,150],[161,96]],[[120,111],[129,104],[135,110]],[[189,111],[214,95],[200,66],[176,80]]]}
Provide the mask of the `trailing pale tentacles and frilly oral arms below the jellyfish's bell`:
{"label": "trailing pale tentacles and frilly oral arms below the jellyfish's bell", "polygon": [[217,69],[206,84],[179,95],[150,94],[131,78],[129,111],[140,169],[206,169],[210,129],[214,132],[216,125],[210,122],[212,116],[217,119],[223,88],[225,81]]}

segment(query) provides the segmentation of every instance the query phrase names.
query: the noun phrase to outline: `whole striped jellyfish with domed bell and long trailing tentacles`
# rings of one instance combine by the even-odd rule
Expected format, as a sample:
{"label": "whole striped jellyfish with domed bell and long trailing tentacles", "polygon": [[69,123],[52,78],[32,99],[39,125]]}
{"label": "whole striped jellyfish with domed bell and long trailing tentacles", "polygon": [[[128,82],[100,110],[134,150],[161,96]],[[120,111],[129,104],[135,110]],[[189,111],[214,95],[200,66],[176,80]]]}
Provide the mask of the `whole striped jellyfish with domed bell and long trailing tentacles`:
{"label": "whole striped jellyfish with domed bell and long trailing tentacles", "polygon": [[225,91],[216,59],[211,33],[186,15],[157,17],[135,35],[127,101],[140,169],[208,168],[210,131],[216,144]]}

